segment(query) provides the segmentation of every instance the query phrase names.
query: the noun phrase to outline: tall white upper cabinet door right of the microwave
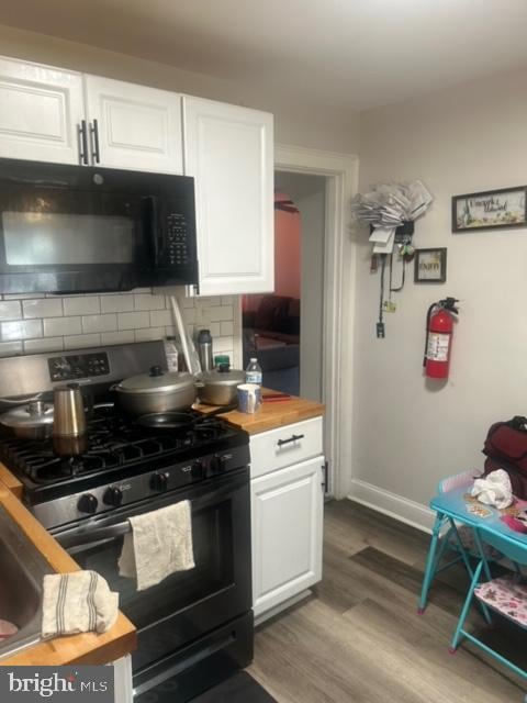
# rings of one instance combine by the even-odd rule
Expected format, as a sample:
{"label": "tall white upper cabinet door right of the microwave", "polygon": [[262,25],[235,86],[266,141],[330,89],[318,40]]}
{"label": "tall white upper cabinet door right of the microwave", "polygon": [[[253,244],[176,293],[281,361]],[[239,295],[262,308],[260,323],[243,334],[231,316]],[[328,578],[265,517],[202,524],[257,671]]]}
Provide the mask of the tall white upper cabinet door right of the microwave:
{"label": "tall white upper cabinet door right of the microwave", "polygon": [[200,292],[274,288],[272,115],[183,98],[184,172],[195,178]]}

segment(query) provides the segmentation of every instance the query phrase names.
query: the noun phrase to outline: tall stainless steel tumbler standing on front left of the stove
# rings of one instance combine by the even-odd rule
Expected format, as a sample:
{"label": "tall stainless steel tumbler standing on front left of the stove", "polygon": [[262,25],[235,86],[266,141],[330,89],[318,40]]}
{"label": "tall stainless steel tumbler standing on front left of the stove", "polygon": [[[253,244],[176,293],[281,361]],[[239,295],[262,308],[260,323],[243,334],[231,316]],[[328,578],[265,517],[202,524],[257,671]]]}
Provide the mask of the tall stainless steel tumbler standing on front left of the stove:
{"label": "tall stainless steel tumbler standing on front left of the stove", "polygon": [[88,446],[85,399],[78,383],[57,386],[54,397],[53,448],[59,456],[76,456]]}

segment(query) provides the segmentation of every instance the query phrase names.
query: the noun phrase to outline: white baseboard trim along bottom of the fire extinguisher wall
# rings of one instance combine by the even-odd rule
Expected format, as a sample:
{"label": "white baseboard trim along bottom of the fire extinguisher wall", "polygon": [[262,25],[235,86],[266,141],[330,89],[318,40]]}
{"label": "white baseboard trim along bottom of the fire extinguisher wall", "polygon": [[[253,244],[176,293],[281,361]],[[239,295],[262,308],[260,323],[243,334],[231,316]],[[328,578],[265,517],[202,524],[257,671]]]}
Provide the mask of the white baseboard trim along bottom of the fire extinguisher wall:
{"label": "white baseboard trim along bottom of the fire extinguisher wall", "polygon": [[431,532],[434,511],[403,495],[397,495],[360,479],[352,479],[348,499],[423,532]]}

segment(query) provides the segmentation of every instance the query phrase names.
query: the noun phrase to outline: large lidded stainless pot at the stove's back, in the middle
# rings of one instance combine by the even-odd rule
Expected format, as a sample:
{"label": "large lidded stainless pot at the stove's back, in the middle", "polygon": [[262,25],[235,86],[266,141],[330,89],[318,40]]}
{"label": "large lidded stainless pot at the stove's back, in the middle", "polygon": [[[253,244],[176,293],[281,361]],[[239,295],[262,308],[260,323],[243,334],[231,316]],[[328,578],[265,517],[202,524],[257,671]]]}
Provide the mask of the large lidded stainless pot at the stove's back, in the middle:
{"label": "large lidded stainless pot at the stove's back, in the middle", "polygon": [[186,410],[195,401],[192,375],[164,371],[160,366],[124,379],[114,390],[120,405],[131,415]]}

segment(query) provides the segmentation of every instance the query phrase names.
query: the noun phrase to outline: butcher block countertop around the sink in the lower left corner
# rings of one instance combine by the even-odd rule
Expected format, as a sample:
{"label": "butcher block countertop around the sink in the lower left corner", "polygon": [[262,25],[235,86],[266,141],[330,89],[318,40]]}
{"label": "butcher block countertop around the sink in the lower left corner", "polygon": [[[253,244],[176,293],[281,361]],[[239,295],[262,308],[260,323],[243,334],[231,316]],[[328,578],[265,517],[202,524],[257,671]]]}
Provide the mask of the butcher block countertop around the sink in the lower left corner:
{"label": "butcher block countertop around the sink in the lower left corner", "polygon": [[[71,559],[49,533],[37,522],[16,498],[18,480],[0,464],[0,505],[25,533],[57,573],[78,571]],[[12,487],[11,491],[8,486]],[[20,486],[20,484],[19,484]],[[106,633],[83,633],[38,641],[0,659],[0,666],[59,666],[68,663],[108,663],[115,661],[136,647],[134,625],[122,614]]]}

